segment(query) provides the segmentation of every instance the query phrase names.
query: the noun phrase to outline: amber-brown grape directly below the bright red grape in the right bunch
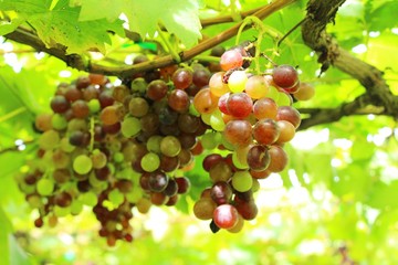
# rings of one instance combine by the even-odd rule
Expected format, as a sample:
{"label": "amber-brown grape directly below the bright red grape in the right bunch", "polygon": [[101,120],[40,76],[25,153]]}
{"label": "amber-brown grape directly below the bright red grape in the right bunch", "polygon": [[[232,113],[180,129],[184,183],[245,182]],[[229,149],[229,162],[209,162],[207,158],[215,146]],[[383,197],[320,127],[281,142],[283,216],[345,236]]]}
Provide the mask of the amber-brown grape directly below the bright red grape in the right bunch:
{"label": "amber-brown grape directly below the bright red grape in the right bunch", "polygon": [[248,146],[252,140],[251,124],[248,120],[230,120],[226,126],[223,137],[233,146]]}

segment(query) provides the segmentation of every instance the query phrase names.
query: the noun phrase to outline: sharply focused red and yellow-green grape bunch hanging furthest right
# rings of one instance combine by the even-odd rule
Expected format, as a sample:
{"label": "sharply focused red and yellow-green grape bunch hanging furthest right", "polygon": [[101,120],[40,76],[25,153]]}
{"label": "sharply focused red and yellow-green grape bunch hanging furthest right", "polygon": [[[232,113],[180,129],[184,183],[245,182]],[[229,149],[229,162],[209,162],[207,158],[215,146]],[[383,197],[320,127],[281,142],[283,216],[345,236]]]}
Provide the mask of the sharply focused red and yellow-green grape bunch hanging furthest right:
{"label": "sharply focused red and yellow-green grape bunch hanging furthest right", "polygon": [[[201,119],[212,128],[201,137],[201,145],[222,150],[205,157],[202,167],[211,187],[193,206],[198,219],[211,220],[213,232],[239,232],[244,220],[256,216],[253,193],[259,190],[259,180],[286,167],[283,146],[301,124],[300,113],[292,107],[292,95],[304,87],[297,71],[279,65],[252,74],[247,68],[253,53],[250,43],[226,51],[220,59],[221,71],[193,97]],[[310,98],[311,88],[305,85],[297,97]]]}

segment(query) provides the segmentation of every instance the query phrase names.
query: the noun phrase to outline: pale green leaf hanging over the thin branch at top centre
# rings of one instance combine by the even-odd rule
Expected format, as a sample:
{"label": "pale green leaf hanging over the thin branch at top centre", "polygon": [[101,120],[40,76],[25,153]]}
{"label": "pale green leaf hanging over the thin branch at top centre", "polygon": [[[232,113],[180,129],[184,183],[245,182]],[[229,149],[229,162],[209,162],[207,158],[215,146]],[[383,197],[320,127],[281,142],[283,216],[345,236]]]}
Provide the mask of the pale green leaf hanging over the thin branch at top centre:
{"label": "pale green leaf hanging over the thin branch at top centre", "polygon": [[201,38],[198,9],[195,0],[146,0],[129,2],[124,12],[130,30],[142,36],[153,36],[158,23],[161,23],[169,33],[176,34],[182,44],[192,46]]}

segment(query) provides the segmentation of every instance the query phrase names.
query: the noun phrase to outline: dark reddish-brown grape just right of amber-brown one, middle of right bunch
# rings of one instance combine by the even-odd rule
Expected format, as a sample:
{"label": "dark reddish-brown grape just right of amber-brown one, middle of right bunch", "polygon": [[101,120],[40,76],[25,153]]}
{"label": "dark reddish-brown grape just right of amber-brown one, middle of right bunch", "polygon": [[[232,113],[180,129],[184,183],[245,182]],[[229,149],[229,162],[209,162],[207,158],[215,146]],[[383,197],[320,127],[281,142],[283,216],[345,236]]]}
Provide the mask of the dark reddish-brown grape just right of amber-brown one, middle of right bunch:
{"label": "dark reddish-brown grape just right of amber-brown one, middle of right bunch", "polygon": [[253,127],[253,137],[261,145],[275,142],[280,134],[281,130],[273,119],[260,119]]}

